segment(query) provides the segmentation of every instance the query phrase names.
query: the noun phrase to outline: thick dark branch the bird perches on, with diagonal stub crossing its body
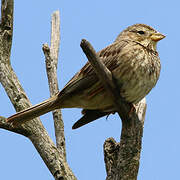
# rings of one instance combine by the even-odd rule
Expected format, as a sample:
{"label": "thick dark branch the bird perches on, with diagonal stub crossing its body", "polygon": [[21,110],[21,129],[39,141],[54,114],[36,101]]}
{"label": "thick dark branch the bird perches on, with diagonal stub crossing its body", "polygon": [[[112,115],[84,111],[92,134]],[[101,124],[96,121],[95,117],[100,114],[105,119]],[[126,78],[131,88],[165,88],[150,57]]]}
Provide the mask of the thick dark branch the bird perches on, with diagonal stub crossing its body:
{"label": "thick dark branch the bird perches on, with diagonal stub crossing its body", "polygon": [[[122,120],[121,141],[109,138],[104,143],[107,180],[136,180],[139,169],[143,125],[146,111],[145,98],[137,105],[130,105],[119,95],[116,79],[100,61],[91,44],[83,39],[81,48],[97,76],[111,95],[113,104]],[[134,109],[132,111],[132,108]],[[131,112],[131,113],[130,113]]]}

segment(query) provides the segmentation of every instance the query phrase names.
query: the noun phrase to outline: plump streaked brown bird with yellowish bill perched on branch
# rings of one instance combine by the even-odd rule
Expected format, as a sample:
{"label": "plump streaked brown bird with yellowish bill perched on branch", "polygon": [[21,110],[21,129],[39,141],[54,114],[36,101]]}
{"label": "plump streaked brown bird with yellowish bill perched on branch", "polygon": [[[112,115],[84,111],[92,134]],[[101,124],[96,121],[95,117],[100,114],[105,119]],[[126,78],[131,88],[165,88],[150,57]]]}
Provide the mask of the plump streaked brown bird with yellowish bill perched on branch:
{"label": "plump streaked brown bird with yellowish bill perched on branch", "polygon": [[[160,70],[157,42],[165,35],[146,24],[134,24],[123,30],[109,46],[97,52],[116,79],[120,96],[138,103],[156,85]],[[91,64],[87,62],[57,95],[7,118],[21,124],[55,109],[82,108],[82,118],[72,129],[116,112]]]}

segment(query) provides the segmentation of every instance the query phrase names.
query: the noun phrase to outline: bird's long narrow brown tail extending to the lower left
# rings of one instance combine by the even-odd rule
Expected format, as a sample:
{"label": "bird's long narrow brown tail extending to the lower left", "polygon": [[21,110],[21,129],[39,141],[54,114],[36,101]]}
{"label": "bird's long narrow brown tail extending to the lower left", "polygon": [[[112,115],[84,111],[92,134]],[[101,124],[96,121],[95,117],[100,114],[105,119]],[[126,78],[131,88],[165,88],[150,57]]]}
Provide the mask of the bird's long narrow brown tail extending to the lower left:
{"label": "bird's long narrow brown tail extending to the lower left", "polygon": [[6,121],[12,123],[13,125],[19,125],[33,118],[41,116],[45,113],[53,111],[56,109],[54,105],[56,100],[57,100],[57,96],[51,97],[40,104],[32,106],[28,109],[25,109],[8,117]]}

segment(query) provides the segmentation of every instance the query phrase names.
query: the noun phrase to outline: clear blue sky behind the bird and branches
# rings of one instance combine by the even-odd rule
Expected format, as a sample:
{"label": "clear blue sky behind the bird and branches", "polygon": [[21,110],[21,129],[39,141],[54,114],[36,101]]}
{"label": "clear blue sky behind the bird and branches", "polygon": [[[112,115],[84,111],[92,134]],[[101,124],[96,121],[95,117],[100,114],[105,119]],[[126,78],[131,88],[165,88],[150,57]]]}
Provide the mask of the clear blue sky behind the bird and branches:
{"label": "clear blue sky behind the bird and branches", "polygon": [[[11,63],[32,104],[49,97],[42,44],[50,41],[50,20],[60,10],[61,44],[58,64],[60,89],[87,61],[79,44],[89,40],[98,51],[114,41],[127,26],[151,25],[167,37],[158,44],[162,71],[157,86],[147,96],[138,180],[179,179],[180,162],[180,61],[179,6],[171,1],[15,1]],[[15,110],[0,85],[0,115]],[[72,130],[81,117],[79,109],[63,110],[67,160],[79,180],[105,179],[103,143],[120,138],[117,115]],[[51,113],[41,117],[54,140]],[[31,142],[0,129],[0,179],[53,179]]]}

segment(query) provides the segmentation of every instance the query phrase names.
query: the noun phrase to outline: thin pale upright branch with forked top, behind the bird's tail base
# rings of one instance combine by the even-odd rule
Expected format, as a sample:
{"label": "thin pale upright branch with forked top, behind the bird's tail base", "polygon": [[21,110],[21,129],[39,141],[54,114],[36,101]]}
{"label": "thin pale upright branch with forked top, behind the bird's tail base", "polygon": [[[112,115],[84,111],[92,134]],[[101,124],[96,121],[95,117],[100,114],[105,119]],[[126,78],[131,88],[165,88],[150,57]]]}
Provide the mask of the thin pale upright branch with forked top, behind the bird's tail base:
{"label": "thin pale upright branch with forked top, behind the bird's tail base", "polygon": [[[46,57],[46,71],[49,82],[49,89],[51,97],[56,95],[59,91],[57,80],[57,63],[60,42],[60,16],[59,11],[55,11],[52,15],[51,21],[51,47],[47,44],[43,45],[43,51]],[[56,145],[60,154],[66,160],[64,123],[62,120],[61,110],[53,111]]]}

